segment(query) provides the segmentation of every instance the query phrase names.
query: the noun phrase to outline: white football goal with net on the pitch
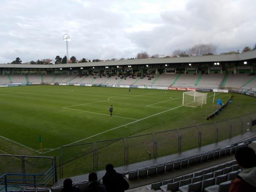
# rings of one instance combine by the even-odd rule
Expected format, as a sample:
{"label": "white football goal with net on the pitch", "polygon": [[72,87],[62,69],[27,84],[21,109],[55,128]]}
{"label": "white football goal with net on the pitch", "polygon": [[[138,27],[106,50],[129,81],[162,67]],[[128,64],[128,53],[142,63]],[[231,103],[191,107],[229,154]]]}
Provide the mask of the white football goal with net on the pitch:
{"label": "white football goal with net on the pitch", "polygon": [[205,105],[207,102],[207,93],[197,91],[188,91],[183,93],[182,105],[188,107],[198,107]]}

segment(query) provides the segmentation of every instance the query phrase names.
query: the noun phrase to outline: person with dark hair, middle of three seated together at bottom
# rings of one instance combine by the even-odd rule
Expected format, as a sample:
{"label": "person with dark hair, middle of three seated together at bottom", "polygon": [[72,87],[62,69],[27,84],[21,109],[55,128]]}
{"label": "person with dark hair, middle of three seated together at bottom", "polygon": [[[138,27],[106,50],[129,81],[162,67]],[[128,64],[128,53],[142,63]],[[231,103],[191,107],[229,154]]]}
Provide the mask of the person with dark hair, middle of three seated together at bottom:
{"label": "person with dark hair, middle of three seated together at bottom", "polygon": [[99,183],[97,174],[92,172],[89,174],[89,185],[84,187],[83,192],[106,192],[106,188]]}

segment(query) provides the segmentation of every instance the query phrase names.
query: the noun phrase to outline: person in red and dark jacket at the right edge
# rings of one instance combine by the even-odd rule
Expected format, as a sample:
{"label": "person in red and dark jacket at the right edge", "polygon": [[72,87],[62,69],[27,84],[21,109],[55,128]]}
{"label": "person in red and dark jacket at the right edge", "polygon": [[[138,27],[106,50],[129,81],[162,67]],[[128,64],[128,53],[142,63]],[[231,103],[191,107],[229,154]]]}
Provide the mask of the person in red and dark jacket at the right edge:
{"label": "person in red and dark jacket at the right edge", "polygon": [[236,150],[236,161],[241,169],[231,183],[229,192],[256,192],[256,154],[250,147]]}

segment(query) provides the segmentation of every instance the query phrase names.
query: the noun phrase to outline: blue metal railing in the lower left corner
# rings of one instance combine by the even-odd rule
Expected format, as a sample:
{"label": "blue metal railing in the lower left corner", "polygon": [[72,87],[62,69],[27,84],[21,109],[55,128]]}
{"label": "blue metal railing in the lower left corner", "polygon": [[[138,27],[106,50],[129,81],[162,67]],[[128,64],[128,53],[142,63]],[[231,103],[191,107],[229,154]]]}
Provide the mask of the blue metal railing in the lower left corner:
{"label": "blue metal railing in the lower left corner", "polygon": [[51,180],[54,184],[56,181],[56,167],[52,166],[46,173],[44,174],[18,174],[18,173],[6,173],[0,176],[0,192],[8,191],[8,187],[22,187],[22,186],[33,186],[36,188],[37,186],[46,187],[50,184]]}

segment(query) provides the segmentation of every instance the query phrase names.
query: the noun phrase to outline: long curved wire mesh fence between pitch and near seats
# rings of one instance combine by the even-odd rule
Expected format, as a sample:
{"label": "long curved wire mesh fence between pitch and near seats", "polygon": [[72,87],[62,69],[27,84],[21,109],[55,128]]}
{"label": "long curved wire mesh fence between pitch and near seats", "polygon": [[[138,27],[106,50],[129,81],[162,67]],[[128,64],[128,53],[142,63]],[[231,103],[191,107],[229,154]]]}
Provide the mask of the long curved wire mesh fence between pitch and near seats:
{"label": "long curved wire mesh fence between pitch and near seats", "polygon": [[174,130],[66,145],[61,147],[60,176],[73,176],[68,174],[74,165],[76,175],[82,175],[102,170],[108,163],[117,167],[180,153],[244,134],[256,129],[255,125],[256,112]]}

